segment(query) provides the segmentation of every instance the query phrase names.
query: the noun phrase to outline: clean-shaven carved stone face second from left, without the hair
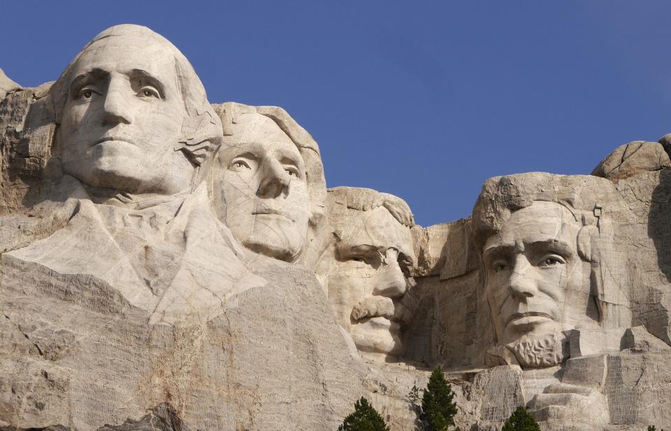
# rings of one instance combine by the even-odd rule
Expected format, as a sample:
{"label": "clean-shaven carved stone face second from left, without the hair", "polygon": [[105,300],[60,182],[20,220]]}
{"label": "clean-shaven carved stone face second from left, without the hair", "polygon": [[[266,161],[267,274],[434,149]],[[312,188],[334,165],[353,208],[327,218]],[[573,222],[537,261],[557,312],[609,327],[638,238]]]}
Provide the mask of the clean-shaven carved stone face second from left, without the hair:
{"label": "clean-shaven carved stone face second from left, without the hair", "polygon": [[233,235],[257,253],[294,262],[308,236],[310,197],[305,164],[289,136],[257,113],[238,116],[236,144],[219,150],[215,193]]}

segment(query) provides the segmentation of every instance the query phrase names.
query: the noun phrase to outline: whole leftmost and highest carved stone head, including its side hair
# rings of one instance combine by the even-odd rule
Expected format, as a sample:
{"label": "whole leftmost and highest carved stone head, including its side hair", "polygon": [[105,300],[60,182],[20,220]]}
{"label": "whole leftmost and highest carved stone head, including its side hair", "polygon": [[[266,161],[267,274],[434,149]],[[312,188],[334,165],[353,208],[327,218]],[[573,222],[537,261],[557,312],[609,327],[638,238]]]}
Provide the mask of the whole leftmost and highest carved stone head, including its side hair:
{"label": "whole leftmost and highest carved stone head, including its side hair", "polygon": [[193,67],[146,27],[103,31],[51,92],[62,170],[93,188],[188,190],[221,141],[221,123]]}

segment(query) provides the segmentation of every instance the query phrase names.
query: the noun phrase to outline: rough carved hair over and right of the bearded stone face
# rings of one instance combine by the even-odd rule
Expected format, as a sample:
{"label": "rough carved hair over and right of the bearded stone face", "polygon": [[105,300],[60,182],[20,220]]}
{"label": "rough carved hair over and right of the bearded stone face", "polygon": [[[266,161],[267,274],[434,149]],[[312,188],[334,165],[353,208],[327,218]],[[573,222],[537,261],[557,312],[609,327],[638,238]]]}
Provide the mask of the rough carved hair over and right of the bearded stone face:
{"label": "rough carved hair over and right of the bearded stone face", "polygon": [[580,259],[590,263],[591,295],[597,302],[600,323],[629,326],[629,274],[625,257],[614,243],[613,225],[614,213],[622,219],[627,209],[605,178],[539,172],[490,178],[473,209],[471,237],[476,253],[482,257],[485,241],[500,232],[512,213],[534,202],[554,202],[570,211],[581,226],[576,249]]}

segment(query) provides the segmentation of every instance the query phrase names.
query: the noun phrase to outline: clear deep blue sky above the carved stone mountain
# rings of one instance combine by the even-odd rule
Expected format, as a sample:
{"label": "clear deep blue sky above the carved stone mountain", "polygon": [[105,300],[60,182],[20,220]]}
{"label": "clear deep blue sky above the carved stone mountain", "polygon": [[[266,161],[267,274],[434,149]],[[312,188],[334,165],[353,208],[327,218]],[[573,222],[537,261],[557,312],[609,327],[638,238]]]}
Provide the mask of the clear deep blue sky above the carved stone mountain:
{"label": "clear deep blue sky above the carved stone mountain", "polygon": [[329,186],[403,197],[421,225],[469,215],[491,176],[589,174],[671,132],[669,1],[13,3],[0,68],[17,83],[55,80],[99,31],[144,24],[210,101],[284,107]]}

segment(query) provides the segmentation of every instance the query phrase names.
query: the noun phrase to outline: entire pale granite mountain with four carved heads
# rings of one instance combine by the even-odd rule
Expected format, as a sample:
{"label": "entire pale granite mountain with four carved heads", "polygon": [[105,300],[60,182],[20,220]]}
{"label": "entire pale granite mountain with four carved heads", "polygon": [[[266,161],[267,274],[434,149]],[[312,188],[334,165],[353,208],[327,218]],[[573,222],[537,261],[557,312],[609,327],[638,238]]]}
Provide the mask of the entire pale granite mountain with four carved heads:
{"label": "entire pale granite mountain with four carved heads", "polygon": [[462,430],[671,428],[668,136],[421,227],[128,24],[0,72],[0,151],[2,430],[335,430],[361,396],[410,430],[434,365]]}

